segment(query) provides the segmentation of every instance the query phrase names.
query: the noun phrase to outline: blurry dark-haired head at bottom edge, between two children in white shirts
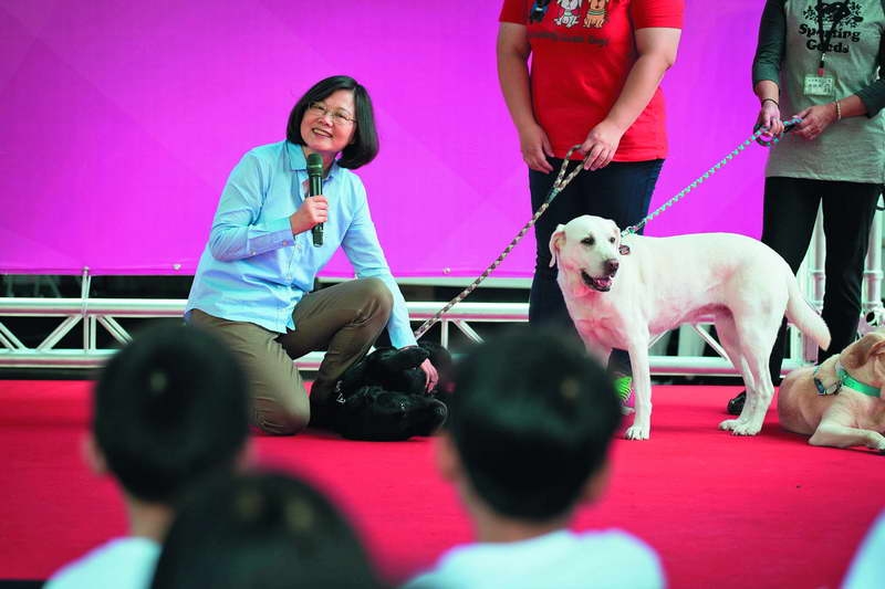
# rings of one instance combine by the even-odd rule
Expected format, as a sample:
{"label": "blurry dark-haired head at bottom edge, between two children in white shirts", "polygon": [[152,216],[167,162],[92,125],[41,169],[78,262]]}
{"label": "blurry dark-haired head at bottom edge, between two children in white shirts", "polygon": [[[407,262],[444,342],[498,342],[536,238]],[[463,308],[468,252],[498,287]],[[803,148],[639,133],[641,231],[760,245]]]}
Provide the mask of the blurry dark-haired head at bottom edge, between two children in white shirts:
{"label": "blurry dark-haired head at bottom edge, between two children in white shirts", "polygon": [[189,497],[152,587],[377,588],[355,532],[310,484],[266,473],[217,480]]}

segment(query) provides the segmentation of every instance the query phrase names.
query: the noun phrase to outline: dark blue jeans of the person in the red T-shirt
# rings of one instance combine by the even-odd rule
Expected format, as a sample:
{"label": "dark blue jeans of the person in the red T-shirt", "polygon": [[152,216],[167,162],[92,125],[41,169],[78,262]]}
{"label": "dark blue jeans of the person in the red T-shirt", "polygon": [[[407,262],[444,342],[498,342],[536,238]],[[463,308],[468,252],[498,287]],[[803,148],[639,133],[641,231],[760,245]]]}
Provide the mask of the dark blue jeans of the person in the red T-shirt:
{"label": "dark blue jeans of the person in the red T-shirt", "polygon": [[[529,170],[532,212],[537,211],[546,200],[560,166],[562,166],[562,160],[558,158],[548,158],[548,161],[553,166],[553,171],[550,173]],[[568,223],[582,214],[611,219],[621,229],[639,222],[648,214],[648,203],[652,201],[652,193],[663,165],[663,159],[613,161],[605,168],[580,172],[553,199],[550,208],[534,225],[537,254],[534,277],[529,295],[529,323],[531,325],[558,325],[573,334],[574,337],[579,337],[556,283],[556,269],[550,267],[550,236],[558,224]],[[629,374],[627,354],[623,350],[614,350],[610,368]]]}

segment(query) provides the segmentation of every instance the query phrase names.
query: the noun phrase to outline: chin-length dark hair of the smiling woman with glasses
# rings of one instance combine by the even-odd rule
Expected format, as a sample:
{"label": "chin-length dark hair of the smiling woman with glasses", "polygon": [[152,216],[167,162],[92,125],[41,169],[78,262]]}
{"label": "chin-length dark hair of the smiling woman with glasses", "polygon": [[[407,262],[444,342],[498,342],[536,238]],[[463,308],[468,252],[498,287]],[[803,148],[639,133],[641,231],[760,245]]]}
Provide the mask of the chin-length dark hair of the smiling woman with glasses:
{"label": "chin-length dark hair of the smiling woman with glasses", "polygon": [[334,75],[311,86],[299,98],[289,114],[285,138],[290,143],[305,145],[304,138],[301,136],[301,119],[304,118],[304,113],[313,103],[324,101],[340,90],[353,92],[356,128],[354,129],[353,143],[341,151],[339,166],[355,170],[360,166],[365,166],[378,155],[378,133],[375,129],[375,112],[372,108],[372,98],[368,97],[366,88],[351,76]]}

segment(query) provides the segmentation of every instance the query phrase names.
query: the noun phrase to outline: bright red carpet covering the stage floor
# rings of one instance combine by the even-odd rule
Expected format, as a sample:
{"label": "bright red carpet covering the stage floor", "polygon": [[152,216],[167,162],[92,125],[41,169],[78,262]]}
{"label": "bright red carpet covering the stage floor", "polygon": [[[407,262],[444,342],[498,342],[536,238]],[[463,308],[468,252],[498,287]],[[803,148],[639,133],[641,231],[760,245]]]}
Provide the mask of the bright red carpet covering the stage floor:
{"label": "bright red carpet covering the stage floor", "polygon": [[[86,381],[0,381],[0,579],[42,579],[123,534],[118,495],[80,457]],[[758,438],[716,429],[737,387],[655,387],[652,440],[617,442],[604,499],[577,528],[618,526],[655,546],[675,588],[835,588],[883,507],[882,456],[816,449],[773,409]],[[470,537],[433,443],[257,437],[266,464],[312,478],[404,579]]]}

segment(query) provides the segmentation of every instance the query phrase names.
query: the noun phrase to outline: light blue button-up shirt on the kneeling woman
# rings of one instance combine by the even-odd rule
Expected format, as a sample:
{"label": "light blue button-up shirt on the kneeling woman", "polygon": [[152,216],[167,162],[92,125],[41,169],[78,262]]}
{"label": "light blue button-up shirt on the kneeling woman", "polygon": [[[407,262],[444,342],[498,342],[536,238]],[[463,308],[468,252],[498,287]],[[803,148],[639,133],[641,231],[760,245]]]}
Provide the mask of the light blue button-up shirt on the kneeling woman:
{"label": "light blue button-up shirt on the kneeling woman", "polygon": [[292,311],[313,288],[316,273],[341,245],[360,278],[377,277],[394,295],[391,343],[415,345],[403,293],[378,243],[360,177],[333,164],[323,180],[329,221],[323,245],[310,231],[292,235],[289,218],[308,196],[301,146],[289,141],[256,147],[228,178],[190,287],[185,318],[198,308],[272,332],[296,329]]}

